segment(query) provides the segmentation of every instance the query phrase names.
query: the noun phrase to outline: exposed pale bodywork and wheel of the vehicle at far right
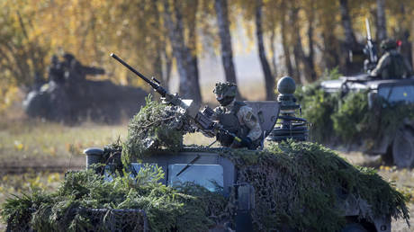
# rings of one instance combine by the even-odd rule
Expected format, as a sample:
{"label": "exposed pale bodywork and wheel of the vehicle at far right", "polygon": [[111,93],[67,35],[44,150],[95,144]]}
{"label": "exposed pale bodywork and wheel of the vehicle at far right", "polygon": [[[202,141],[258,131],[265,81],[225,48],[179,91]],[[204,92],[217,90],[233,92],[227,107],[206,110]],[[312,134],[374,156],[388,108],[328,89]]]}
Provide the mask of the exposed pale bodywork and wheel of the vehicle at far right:
{"label": "exposed pale bodywork and wheel of the vehicle at far right", "polygon": [[[414,79],[375,79],[368,75],[343,76],[338,80],[323,81],[320,86],[327,93],[347,94],[366,91],[370,111],[383,112],[382,109],[396,104],[414,103]],[[381,114],[380,114],[381,117]],[[351,126],[351,125],[350,125]],[[380,125],[381,126],[381,125]],[[384,126],[384,125],[382,125]],[[377,139],[367,154],[382,155],[384,160],[398,167],[414,165],[414,119],[406,118],[392,134]]]}

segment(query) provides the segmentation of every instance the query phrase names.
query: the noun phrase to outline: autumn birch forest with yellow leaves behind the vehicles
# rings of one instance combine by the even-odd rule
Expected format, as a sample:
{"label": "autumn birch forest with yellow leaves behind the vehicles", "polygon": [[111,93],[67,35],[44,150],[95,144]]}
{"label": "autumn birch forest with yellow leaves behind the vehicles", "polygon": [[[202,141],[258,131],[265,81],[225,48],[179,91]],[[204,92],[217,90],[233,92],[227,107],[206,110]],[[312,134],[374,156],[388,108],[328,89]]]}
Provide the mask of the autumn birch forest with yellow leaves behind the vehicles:
{"label": "autumn birch forest with yellow leaves behind the vehicles", "polygon": [[[108,55],[115,52],[147,76],[157,76],[166,87],[175,83],[179,94],[196,102],[202,102],[201,83],[220,76],[241,85],[260,79],[266,100],[275,100],[280,76],[293,76],[305,85],[335,67],[343,74],[361,71],[363,59],[358,60],[358,52],[366,41],[365,18],[372,22],[374,40],[401,40],[401,53],[412,64],[414,2],[410,0],[0,3],[3,112],[18,90],[28,92],[36,79],[46,80],[51,56],[63,52],[74,54],[83,64],[105,68],[108,75],[100,78],[143,85],[110,60]],[[354,63],[349,61],[349,50],[354,51]],[[204,61],[211,58],[221,62],[206,66]],[[238,58],[241,61],[235,66]],[[252,63],[257,64],[255,70],[249,70]]]}

